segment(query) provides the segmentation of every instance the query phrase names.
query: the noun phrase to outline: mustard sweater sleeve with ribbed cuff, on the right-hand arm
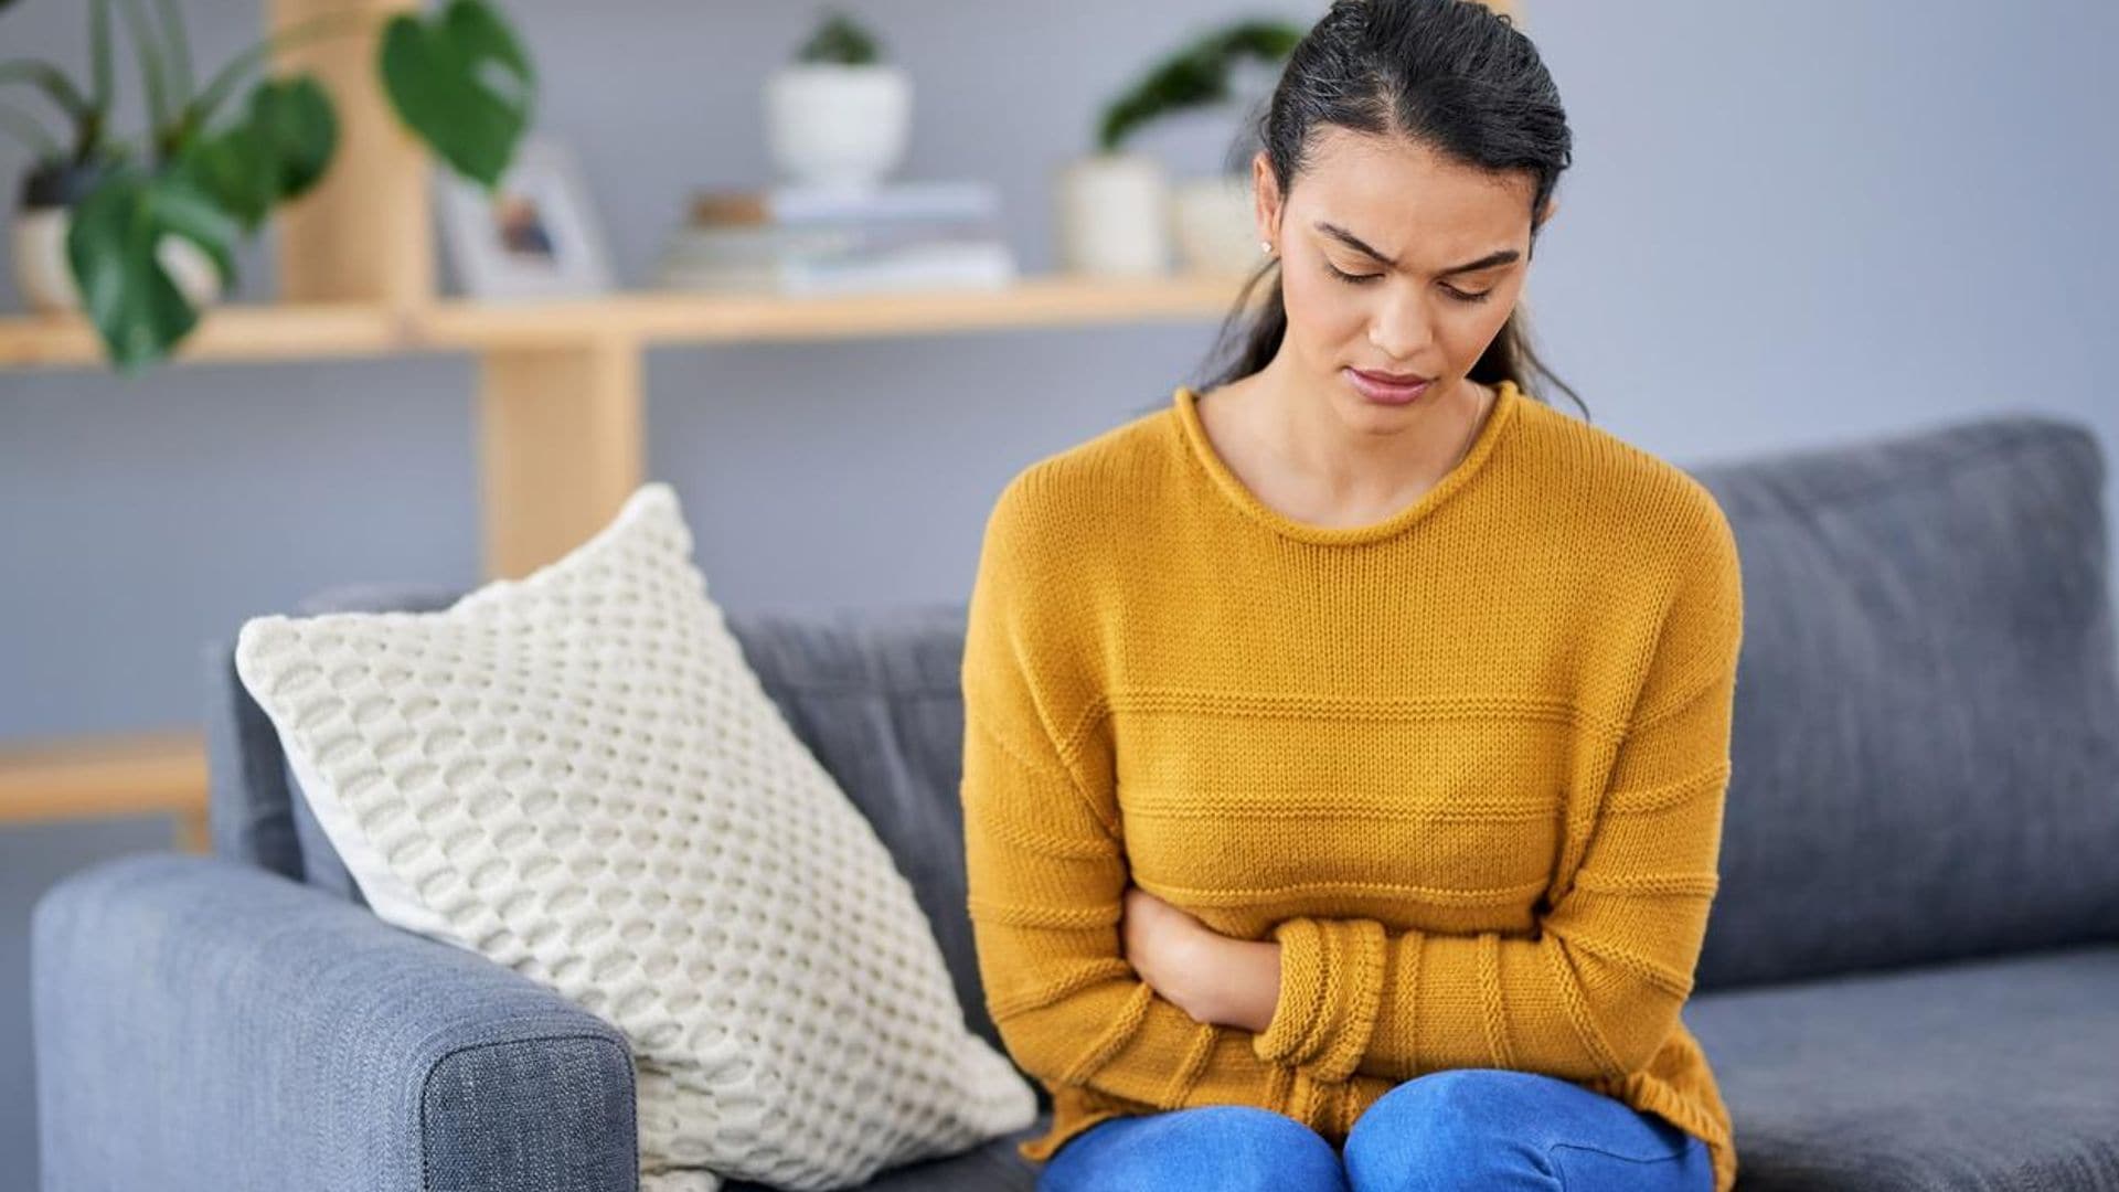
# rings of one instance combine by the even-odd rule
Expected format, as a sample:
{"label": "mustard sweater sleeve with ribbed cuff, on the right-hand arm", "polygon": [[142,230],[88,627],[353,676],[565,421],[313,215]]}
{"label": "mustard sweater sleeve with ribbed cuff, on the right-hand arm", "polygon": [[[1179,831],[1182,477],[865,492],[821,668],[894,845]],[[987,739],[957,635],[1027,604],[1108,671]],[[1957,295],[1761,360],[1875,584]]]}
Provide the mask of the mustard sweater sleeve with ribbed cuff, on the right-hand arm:
{"label": "mustard sweater sleeve with ribbed cuff, on the right-hand arm", "polygon": [[1591,1080],[1649,1065],[1691,995],[1719,887],[1742,579],[1727,520],[1706,511],[1610,742],[1581,863],[1536,933],[1282,921],[1261,1060],[1394,1082],[1454,1067]]}

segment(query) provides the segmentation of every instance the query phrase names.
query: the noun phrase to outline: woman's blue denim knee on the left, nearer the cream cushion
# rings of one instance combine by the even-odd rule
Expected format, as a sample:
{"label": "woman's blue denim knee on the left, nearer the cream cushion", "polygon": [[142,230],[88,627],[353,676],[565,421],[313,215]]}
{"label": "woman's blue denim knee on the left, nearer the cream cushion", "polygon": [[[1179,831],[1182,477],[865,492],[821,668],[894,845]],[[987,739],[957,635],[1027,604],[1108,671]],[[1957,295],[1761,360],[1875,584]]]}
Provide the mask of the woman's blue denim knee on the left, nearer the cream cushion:
{"label": "woman's blue denim knee on the left, nearer the cream cushion", "polygon": [[1322,1135],[1252,1105],[1195,1105],[1098,1122],[1038,1173],[1038,1192],[1161,1188],[1346,1192],[1346,1173]]}

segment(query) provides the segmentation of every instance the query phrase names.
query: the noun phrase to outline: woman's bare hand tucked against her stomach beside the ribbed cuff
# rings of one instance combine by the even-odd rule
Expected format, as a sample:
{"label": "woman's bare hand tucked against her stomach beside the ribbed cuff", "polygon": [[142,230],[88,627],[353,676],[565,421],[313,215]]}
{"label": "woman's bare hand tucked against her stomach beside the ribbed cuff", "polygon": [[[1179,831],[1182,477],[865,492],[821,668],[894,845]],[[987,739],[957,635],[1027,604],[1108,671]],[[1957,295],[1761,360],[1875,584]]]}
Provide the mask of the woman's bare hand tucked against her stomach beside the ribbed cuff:
{"label": "woman's bare hand tucked against her stomach beside the ribbed cuff", "polygon": [[1140,887],[1125,887],[1121,946],[1140,980],[1195,1022],[1263,1031],[1280,997],[1280,944],[1223,935]]}

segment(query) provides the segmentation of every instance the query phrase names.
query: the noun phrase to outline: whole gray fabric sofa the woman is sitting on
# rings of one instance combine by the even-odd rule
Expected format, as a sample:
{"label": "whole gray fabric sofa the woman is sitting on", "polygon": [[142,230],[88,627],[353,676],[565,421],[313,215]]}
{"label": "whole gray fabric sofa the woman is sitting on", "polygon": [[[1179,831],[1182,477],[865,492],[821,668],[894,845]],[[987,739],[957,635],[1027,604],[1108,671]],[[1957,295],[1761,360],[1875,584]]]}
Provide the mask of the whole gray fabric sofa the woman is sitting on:
{"label": "whole gray fabric sofa the woman is sitting on", "polygon": [[[2104,471],[2085,426],[2030,414],[1693,469],[1735,526],[1746,634],[1685,1020],[1746,1192],[2119,1190]],[[964,916],[962,615],[731,628],[998,1044]],[[34,910],[44,1190],[636,1188],[621,1035],[364,910],[227,643],[206,664],[216,855],[110,859]],[[1019,1137],[873,1188],[1030,1188]]]}

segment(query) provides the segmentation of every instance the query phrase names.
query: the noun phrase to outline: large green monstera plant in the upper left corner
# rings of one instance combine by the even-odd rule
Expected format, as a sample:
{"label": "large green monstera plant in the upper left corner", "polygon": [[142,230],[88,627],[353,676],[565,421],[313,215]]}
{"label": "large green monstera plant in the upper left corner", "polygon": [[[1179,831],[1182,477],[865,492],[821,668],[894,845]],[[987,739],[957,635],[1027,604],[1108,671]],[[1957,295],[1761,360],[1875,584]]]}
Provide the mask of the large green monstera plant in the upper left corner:
{"label": "large green monstera plant in the upper left corner", "polygon": [[[8,0],[0,0],[0,11]],[[275,51],[362,32],[373,17],[326,13],[292,23],[195,85],[176,0],[89,0],[89,83],[47,62],[0,62],[0,98],[40,91],[68,121],[59,140],[0,104],[0,127],[32,146],[23,216],[64,216],[55,267],[119,371],[161,361],[197,325],[197,308],[235,284],[235,242],[271,210],[314,189],[337,151],[331,93],[309,72],[256,78]],[[112,17],[140,59],[148,129],[110,136]],[[464,178],[494,191],[513,161],[536,98],[521,40],[485,0],[447,0],[432,15],[394,13],[377,38],[375,70],[396,117]],[[17,255],[25,250],[17,223]],[[21,261],[19,261],[21,265]],[[186,267],[189,265],[189,267]]]}

